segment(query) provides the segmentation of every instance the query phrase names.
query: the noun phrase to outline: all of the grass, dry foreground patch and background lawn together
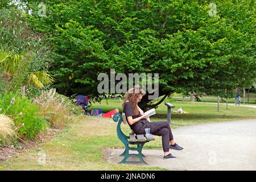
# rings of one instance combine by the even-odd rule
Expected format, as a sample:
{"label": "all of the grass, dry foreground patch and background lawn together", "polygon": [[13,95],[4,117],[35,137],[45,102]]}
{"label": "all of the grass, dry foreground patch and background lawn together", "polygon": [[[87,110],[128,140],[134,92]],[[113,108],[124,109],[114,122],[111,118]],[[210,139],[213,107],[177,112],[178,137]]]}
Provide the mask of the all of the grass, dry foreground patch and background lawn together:
{"label": "all of the grass, dry foreground patch and background lawn together", "polygon": [[[168,100],[167,100],[168,101]],[[207,122],[222,122],[236,119],[256,118],[256,109],[242,106],[221,105],[220,112],[213,104],[198,102],[171,101],[175,110],[182,107],[188,114],[172,113],[172,128],[195,125]],[[101,108],[104,112],[118,108],[119,100],[109,100],[101,104],[94,104],[90,109]],[[161,104],[156,109],[155,117],[151,121],[166,120],[167,107]],[[40,147],[46,151],[46,164],[38,164],[39,148],[30,150],[0,163],[0,170],[163,170],[154,167],[137,167],[135,165],[118,165],[106,162],[104,148],[123,147],[116,135],[116,125],[111,118],[82,116],[76,123],[64,129],[51,142],[43,143]],[[128,125],[123,125],[125,133],[129,133]],[[158,148],[162,150],[162,140],[145,144],[144,148]],[[160,160],[160,159],[159,159]]]}

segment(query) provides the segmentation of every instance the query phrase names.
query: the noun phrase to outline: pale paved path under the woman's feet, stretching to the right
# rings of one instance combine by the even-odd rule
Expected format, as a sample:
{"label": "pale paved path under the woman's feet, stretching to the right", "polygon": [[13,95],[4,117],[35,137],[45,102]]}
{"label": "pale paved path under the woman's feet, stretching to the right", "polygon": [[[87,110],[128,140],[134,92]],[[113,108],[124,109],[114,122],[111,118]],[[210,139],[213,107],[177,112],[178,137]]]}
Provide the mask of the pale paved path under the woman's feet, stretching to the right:
{"label": "pale paved path under the woman's feet, stretching to the right", "polygon": [[[149,166],[171,170],[256,170],[256,119],[184,126],[173,130],[183,151],[171,150],[176,160],[163,160],[162,150],[143,150]],[[118,163],[121,149],[109,151]],[[132,158],[130,160],[133,160]]]}

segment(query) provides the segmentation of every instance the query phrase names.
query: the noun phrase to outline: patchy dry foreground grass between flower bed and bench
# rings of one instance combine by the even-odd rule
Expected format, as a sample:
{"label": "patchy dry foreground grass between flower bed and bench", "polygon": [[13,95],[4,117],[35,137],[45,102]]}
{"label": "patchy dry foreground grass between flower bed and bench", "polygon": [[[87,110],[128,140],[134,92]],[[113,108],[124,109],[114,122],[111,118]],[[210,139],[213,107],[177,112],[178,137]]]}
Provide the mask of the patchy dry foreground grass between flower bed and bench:
{"label": "patchy dry foreground grass between flower bed and bench", "polygon": [[[83,117],[64,129],[51,142],[40,147],[46,151],[46,164],[40,165],[39,148],[0,163],[0,170],[160,170],[158,167],[110,164],[103,148],[122,147],[112,119]],[[127,130],[127,128],[126,128]],[[42,155],[41,155],[42,156]],[[163,170],[163,169],[161,169]]]}

